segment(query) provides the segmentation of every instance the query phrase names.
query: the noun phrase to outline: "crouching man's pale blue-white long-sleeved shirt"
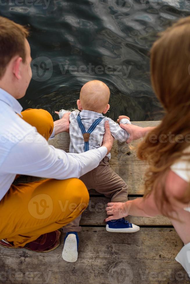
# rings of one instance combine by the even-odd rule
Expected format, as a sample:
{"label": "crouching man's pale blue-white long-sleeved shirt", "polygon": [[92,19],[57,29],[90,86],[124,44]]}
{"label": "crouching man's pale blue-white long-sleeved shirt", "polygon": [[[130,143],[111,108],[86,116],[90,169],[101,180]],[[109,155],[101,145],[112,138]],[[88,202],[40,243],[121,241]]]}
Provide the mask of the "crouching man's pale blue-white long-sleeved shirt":
{"label": "crouching man's pale blue-white long-sleeved shirt", "polygon": [[16,114],[21,110],[19,102],[0,89],[0,200],[16,174],[79,178],[96,168],[107,154],[106,147],[74,154],[50,146],[35,127]]}

